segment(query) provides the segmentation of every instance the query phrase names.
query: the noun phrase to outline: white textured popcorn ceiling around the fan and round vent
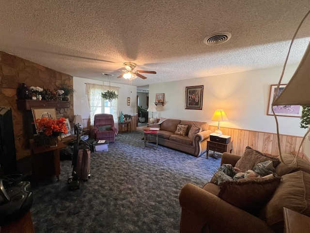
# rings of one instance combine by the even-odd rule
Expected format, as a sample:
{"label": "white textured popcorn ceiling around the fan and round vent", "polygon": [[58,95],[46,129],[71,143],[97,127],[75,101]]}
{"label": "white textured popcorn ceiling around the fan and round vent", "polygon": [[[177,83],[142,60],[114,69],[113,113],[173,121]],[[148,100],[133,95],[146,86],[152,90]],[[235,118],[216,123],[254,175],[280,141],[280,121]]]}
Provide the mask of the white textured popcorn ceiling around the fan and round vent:
{"label": "white textured popcorn ceiling around the fan and round vent", "polygon": [[[132,85],[283,66],[310,0],[0,0],[0,50],[72,76],[129,84],[124,62],[154,70]],[[203,39],[226,31],[226,43]],[[298,64],[310,19],[288,64]],[[117,71],[115,71],[117,70]]]}

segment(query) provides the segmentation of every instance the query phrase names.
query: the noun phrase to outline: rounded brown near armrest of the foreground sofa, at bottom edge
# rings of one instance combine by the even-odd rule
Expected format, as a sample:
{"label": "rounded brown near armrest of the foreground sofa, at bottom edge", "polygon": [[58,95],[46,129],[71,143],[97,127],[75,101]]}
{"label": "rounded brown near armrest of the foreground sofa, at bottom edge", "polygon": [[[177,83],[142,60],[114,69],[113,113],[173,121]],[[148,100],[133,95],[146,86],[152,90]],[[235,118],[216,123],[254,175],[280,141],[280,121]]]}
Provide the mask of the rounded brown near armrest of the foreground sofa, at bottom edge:
{"label": "rounded brown near armrest of the foreground sofa, at bottom edge", "polygon": [[179,201],[182,207],[180,233],[186,233],[189,229],[191,233],[202,232],[200,227],[218,233],[273,232],[262,219],[191,183],[186,183],[181,189]]}

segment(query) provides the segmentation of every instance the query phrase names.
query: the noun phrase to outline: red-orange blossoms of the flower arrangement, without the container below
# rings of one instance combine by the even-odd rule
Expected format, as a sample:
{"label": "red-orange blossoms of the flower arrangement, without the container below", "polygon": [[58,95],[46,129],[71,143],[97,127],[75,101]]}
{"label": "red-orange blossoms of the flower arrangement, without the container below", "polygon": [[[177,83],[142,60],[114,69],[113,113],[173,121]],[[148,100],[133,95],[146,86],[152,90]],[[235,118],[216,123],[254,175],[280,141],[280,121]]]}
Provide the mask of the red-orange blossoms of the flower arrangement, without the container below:
{"label": "red-orange blossoms of the flower arrangement, without the container below", "polygon": [[43,117],[40,119],[36,119],[34,123],[36,123],[37,125],[38,132],[45,133],[47,136],[58,136],[62,133],[68,132],[66,126],[66,119],[64,117],[61,117],[59,119]]}

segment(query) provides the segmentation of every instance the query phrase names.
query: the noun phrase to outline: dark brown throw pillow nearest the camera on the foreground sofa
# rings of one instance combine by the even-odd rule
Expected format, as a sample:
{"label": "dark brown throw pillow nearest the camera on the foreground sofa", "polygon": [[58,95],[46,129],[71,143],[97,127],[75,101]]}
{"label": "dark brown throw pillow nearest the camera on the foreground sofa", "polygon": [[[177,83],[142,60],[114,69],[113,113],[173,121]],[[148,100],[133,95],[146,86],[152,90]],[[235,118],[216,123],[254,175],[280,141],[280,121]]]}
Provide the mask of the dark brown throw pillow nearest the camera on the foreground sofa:
{"label": "dark brown throw pillow nearest the camera on the foreground sofa", "polygon": [[277,189],[281,177],[244,178],[219,183],[217,197],[253,215],[257,214]]}

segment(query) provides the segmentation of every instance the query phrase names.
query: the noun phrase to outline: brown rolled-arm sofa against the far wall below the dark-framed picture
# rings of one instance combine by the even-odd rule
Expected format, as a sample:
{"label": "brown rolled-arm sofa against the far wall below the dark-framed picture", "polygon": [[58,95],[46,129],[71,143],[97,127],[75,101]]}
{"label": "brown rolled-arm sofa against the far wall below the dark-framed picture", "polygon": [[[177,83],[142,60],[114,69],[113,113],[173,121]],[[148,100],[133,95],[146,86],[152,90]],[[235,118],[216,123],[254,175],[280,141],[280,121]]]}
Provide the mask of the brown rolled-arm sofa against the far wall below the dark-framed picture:
{"label": "brown rolled-arm sofa against the far wall below the dark-framed picture", "polygon": [[[208,130],[209,125],[207,122],[178,119],[164,119],[159,122],[161,123],[148,125],[148,127],[153,128],[160,127],[158,132],[159,145],[180,150],[196,157],[199,157],[206,151],[207,139],[210,133],[212,133],[211,130]],[[178,125],[187,125],[185,135],[176,133]],[[197,133],[193,133],[194,128],[197,129]],[[155,141],[155,137],[152,135],[151,140]]]}

